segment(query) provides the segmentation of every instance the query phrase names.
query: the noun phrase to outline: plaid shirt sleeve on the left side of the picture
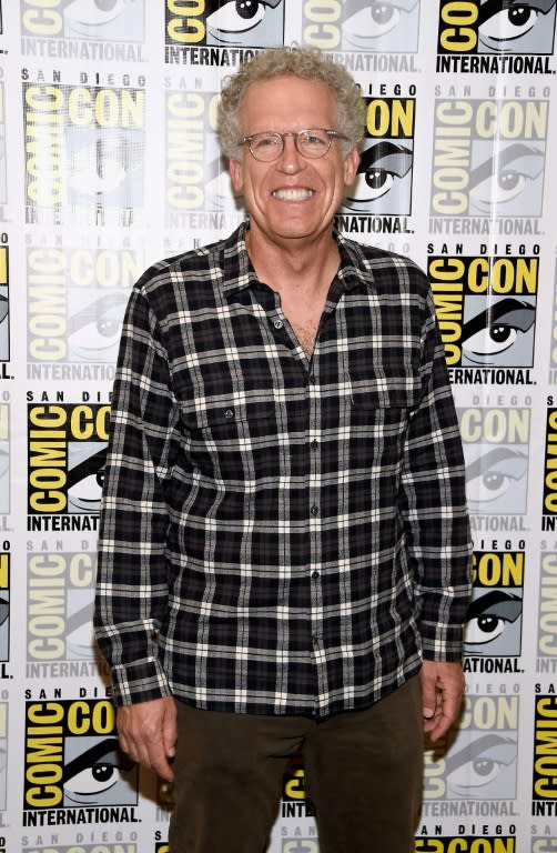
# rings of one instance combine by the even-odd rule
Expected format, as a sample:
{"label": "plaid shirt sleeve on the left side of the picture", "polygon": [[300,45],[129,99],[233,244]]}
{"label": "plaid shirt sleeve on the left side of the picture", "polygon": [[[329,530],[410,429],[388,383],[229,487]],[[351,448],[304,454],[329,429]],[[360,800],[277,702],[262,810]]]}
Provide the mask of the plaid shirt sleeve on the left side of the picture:
{"label": "plaid shirt sleeve on the left side of the picture", "polygon": [[170,695],[158,635],[169,613],[165,482],[176,446],[176,405],[160,324],[132,291],[111,401],[94,613],[117,704]]}

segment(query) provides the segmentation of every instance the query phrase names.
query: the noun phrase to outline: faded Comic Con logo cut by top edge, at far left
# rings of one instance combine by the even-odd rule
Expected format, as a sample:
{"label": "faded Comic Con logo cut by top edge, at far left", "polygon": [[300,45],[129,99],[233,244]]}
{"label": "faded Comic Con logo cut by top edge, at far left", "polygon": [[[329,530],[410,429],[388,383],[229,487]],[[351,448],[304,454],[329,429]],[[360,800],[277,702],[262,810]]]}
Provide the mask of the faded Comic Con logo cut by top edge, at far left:
{"label": "faded Comic Con logo cut by top edge, at far left", "polygon": [[21,0],[21,34],[143,41],[144,16],[144,0]]}

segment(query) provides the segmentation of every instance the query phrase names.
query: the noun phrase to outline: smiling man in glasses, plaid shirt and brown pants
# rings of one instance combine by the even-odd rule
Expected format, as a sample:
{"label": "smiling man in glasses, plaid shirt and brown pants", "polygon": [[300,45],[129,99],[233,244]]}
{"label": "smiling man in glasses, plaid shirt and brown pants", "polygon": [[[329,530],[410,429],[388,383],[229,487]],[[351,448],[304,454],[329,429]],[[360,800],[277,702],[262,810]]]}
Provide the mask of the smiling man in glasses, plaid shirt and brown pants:
{"label": "smiling man in glasses, plaid shirt and brown pants", "polygon": [[155,264],[124,321],[95,624],[176,853],[262,853],[298,751],[322,853],[408,853],[423,729],[458,714],[469,530],[427,282],[333,230],[363,127],[315,51],[243,66],[220,129],[249,222]]}

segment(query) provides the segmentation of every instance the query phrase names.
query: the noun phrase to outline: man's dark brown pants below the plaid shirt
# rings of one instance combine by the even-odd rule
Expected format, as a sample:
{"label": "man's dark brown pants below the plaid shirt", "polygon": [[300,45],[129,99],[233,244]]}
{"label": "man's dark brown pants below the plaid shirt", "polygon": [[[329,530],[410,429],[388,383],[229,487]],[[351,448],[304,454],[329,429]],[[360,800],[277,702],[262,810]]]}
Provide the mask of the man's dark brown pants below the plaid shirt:
{"label": "man's dark brown pants below the plaid shirt", "polygon": [[418,676],[364,711],[324,722],[178,702],[178,733],[172,853],[264,853],[297,753],[321,853],[414,851],[423,780]]}

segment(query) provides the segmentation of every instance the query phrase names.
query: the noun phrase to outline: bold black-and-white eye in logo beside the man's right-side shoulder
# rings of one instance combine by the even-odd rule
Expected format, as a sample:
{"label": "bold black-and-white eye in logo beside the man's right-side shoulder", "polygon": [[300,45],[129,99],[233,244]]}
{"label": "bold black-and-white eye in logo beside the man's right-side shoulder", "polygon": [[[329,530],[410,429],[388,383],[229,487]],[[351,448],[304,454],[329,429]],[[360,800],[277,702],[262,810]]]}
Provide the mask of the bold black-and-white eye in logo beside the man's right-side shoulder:
{"label": "bold black-and-white eye in logo beside the man's right-side shoulder", "polygon": [[536,309],[519,299],[503,299],[463,325],[463,352],[472,362],[508,350],[519,334],[534,325]]}

